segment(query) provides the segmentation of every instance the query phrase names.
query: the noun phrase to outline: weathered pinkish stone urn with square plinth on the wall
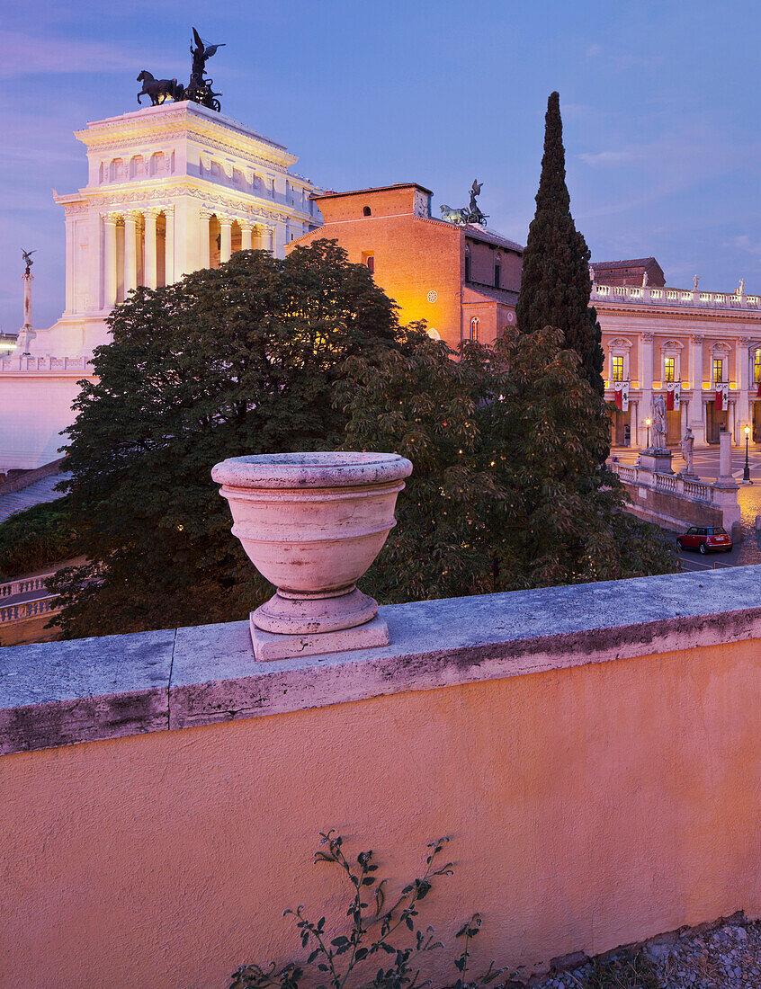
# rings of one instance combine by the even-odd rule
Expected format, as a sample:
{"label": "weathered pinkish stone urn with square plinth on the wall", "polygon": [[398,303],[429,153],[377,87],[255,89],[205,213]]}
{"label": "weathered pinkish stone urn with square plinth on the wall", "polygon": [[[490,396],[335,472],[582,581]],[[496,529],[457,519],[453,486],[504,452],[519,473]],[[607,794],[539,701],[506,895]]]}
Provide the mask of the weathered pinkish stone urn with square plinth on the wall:
{"label": "weathered pinkish stone urn with square plinth on the wall", "polygon": [[[388,643],[377,602],[356,581],[396,525],[397,495],[412,470],[393,453],[262,454],[216,465],[212,478],[230,503],[233,534],[277,587],[251,613],[257,659]],[[368,623],[369,634],[346,634]],[[383,630],[385,641],[375,641]]]}

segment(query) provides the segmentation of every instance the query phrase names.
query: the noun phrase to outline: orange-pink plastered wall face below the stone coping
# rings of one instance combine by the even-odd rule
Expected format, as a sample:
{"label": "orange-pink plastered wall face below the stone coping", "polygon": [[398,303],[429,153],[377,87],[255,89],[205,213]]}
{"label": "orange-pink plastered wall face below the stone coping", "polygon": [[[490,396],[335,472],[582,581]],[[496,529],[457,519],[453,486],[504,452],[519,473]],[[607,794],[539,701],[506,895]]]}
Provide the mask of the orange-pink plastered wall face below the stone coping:
{"label": "orange-pink plastered wall face below the stone coping", "polygon": [[[3,985],[214,989],[343,902],[317,832],[394,881],[450,835],[422,919],[546,963],[761,914],[761,650],[698,647],[0,760]],[[434,984],[454,978],[441,952]]]}

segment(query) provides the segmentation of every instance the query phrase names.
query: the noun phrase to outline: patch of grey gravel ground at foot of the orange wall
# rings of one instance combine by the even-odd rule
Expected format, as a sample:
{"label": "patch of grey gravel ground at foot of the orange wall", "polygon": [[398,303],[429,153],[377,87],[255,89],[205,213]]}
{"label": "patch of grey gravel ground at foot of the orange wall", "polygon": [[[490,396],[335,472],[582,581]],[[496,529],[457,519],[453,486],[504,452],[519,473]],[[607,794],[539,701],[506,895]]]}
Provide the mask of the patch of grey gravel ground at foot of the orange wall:
{"label": "patch of grey gravel ground at foot of the orange wall", "polygon": [[761,989],[761,922],[733,917],[652,939],[642,953],[588,961],[535,989]]}

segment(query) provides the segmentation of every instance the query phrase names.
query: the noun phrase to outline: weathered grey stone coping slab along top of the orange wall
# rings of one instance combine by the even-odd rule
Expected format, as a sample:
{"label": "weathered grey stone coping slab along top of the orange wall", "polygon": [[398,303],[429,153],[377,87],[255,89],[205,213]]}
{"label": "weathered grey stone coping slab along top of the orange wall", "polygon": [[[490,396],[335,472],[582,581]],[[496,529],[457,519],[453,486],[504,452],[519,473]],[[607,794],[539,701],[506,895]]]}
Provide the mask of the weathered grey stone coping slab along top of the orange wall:
{"label": "weathered grey stone coping slab along top of the orange wall", "polygon": [[0,755],[761,640],[761,566],[380,613],[389,646],[267,663],[245,621],[0,649]]}

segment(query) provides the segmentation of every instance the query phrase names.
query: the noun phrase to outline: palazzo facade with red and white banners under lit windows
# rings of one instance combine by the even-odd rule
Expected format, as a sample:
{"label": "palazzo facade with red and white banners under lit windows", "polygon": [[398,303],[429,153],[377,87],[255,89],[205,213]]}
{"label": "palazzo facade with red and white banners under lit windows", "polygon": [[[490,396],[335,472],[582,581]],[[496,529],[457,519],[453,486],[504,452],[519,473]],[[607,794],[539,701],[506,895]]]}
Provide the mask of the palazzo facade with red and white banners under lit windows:
{"label": "palazzo facade with red and white banners under lit windows", "polygon": [[606,398],[615,403],[617,388],[627,395],[628,407],[613,412],[614,445],[644,449],[653,396],[675,388],[669,444],[688,425],[699,446],[718,443],[723,430],[744,443],[746,425],[761,443],[760,296],[595,283],[591,305],[603,330]]}

